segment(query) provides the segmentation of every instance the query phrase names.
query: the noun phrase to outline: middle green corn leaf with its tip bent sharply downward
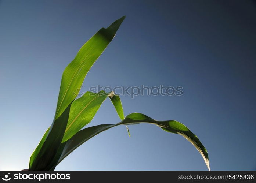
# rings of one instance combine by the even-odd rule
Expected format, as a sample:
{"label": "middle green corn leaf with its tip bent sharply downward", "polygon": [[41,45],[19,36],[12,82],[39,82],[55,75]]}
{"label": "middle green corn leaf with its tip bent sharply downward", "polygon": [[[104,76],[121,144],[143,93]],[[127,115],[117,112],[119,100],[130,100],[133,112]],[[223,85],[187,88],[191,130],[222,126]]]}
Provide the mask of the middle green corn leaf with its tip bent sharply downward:
{"label": "middle green corn leaf with its tip bent sharply downward", "polygon": [[[103,90],[101,90],[98,93],[93,92],[86,92],[83,94],[82,97],[76,99],[74,102],[72,102],[69,112],[69,119],[68,123],[66,125],[66,130],[64,137],[62,139],[62,146],[59,147],[54,159],[51,161],[51,164],[48,165],[46,169],[50,169],[54,166],[55,163],[57,163],[58,158],[60,157],[62,150],[64,148],[63,142],[67,141],[69,138],[71,138],[74,134],[76,134],[80,129],[82,129],[84,126],[86,126],[88,123],[91,122],[95,114],[97,113],[98,109],[100,108],[101,104],[104,102],[104,100],[109,96],[111,99],[113,105],[115,106],[116,110],[118,111],[118,114],[123,115],[123,108],[121,104],[121,100],[119,96],[116,96],[112,92],[106,93]],[[120,115],[119,115],[120,116]],[[39,147],[41,148],[43,145],[43,142],[45,141],[46,135],[49,131],[45,132],[42,140],[39,143]],[[127,129],[128,130],[128,129]],[[129,132],[129,130],[128,130]],[[38,149],[36,149],[38,150]],[[38,152],[34,152],[32,156],[30,157],[30,162],[33,162],[35,159],[35,154]],[[55,163],[54,163],[55,162]],[[30,165],[31,167],[31,165]]]}

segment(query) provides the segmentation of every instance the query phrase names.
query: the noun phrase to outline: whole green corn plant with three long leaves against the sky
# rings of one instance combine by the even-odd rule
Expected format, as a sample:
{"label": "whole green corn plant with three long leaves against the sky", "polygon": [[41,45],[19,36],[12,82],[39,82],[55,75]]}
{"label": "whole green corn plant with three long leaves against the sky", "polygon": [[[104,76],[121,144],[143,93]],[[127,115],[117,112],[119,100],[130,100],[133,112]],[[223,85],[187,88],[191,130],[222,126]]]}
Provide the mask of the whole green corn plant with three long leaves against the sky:
{"label": "whole green corn plant with three long leaves against the sky", "polygon": [[[157,121],[141,113],[131,113],[125,117],[120,97],[113,92],[86,92],[80,98],[74,94],[80,89],[87,72],[112,41],[124,19],[125,16],[113,22],[108,28],[100,29],[80,48],[75,59],[65,68],[53,122],[31,155],[29,170],[54,170],[73,150],[100,132],[119,125],[127,127],[139,123],[155,124],[167,132],[182,135],[196,147],[210,169],[205,147],[183,124],[174,120]],[[81,130],[91,122],[106,98],[111,100],[121,121]],[[127,130],[129,133],[128,127]]]}

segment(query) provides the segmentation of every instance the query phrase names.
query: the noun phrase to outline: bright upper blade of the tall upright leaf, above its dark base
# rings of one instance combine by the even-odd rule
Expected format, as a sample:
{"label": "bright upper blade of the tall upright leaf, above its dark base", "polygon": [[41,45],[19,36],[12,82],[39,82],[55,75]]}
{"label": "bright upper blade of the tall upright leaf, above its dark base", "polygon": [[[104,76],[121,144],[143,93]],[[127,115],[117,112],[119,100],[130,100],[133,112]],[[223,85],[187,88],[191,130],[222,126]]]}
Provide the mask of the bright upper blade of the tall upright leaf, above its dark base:
{"label": "bright upper blade of the tall upright leaf, above its dark base", "polygon": [[55,117],[59,117],[76,98],[77,90],[83,84],[87,72],[93,66],[104,49],[112,41],[125,16],[116,20],[107,29],[100,29],[80,48],[75,59],[65,68],[60,86]]}

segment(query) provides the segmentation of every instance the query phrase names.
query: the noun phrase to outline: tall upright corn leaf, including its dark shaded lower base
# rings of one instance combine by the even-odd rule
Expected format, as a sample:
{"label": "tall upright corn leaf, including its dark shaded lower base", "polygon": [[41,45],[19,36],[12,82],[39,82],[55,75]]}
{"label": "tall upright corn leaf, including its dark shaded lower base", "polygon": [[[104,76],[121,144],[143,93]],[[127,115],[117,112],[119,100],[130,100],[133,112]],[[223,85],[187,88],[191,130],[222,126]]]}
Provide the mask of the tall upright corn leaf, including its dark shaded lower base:
{"label": "tall upright corn leaf, including its dark shaded lower base", "polygon": [[[40,170],[47,167],[57,152],[68,122],[69,109],[76,98],[77,90],[104,49],[112,41],[125,16],[113,22],[107,29],[100,29],[80,48],[75,59],[65,68],[53,123],[33,152],[29,169]],[[62,121],[62,122],[61,122]],[[47,154],[47,152],[49,152]]]}

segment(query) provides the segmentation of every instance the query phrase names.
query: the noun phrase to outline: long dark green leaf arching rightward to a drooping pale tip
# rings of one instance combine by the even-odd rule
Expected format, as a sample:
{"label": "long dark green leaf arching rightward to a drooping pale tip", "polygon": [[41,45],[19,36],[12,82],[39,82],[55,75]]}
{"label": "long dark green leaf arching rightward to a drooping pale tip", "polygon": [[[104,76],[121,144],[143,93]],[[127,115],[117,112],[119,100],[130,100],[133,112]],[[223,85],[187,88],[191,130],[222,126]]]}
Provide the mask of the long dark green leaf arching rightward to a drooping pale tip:
{"label": "long dark green leaf arching rightward to a drooping pale tip", "polygon": [[86,142],[87,140],[89,140],[90,138],[94,137],[95,135],[99,134],[102,131],[108,130],[109,128],[112,128],[118,125],[129,125],[129,124],[139,124],[139,123],[155,124],[156,126],[159,126],[160,128],[162,128],[167,132],[182,135],[188,141],[190,141],[192,145],[196,147],[196,149],[199,151],[199,153],[202,155],[203,159],[205,160],[205,163],[208,169],[210,170],[208,153],[205,147],[199,141],[198,137],[196,137],[196,135],[193,134],[186,126],[174,120],[156,121],[140,113],[131,113],[130,115],[126,116],[125,119],[123,119],[120,123],[117,123],[117,124],[101,124],[101,125],[85,128],[84,130],[77,132],[75,135],[73,135],[72,138],[66,141],[65,147],[63,149],[63,152],[60,156],[58,163],[60,163],[73,150],[75,150],[77,147],[82,145],[82,143]]}

